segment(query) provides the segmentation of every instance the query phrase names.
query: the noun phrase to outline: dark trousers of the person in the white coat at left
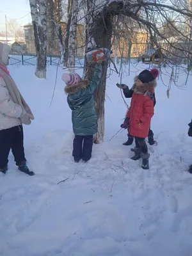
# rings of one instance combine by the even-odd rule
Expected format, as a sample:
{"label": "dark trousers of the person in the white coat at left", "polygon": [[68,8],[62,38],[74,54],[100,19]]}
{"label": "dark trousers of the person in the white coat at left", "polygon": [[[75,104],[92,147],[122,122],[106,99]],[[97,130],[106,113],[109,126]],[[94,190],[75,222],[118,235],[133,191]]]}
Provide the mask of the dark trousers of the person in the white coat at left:
{"label": "dark trousers of the person in the white coat at left", "polygon": [[0,168],[8,164],[11,149],[17,166],[26,162],[23,140],[22,125],[0,131]]}

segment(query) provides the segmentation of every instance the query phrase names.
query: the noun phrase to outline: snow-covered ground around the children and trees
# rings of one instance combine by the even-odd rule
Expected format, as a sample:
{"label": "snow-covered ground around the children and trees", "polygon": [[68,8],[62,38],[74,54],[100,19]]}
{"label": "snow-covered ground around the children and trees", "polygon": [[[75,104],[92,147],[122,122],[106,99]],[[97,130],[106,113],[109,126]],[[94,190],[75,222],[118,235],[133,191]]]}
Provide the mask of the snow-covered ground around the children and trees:
{"label": "snow-covered ground around the children and trees", "polygon": [[[130,86],[136,74],[131,68],[131,76],[123,79]],[[126,112],[117,75],[108,79],[105,142],[94,146],[89,163],[76,164],[62,70],[51,108],[56,67],[48,68],[46,81],[37,79],[34,70],[10,67],[35,115],[24,135],[36,175],[17,171],[12,155],[8,173],[0,174],[0,255],[191,256],[192,175],[186,170],[192,164],[187,134],[192,79],[188,88],[173,86],[170,99],[158,81],[152,119],[158,145],[149,147],[150,170],[142,170],[139,161],[130,159],[131,147],[122,146],[126,131],[109,141]],[[179,79],[185,81],[186,75]]]}

